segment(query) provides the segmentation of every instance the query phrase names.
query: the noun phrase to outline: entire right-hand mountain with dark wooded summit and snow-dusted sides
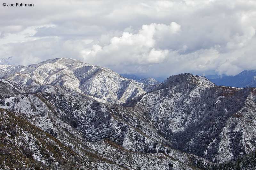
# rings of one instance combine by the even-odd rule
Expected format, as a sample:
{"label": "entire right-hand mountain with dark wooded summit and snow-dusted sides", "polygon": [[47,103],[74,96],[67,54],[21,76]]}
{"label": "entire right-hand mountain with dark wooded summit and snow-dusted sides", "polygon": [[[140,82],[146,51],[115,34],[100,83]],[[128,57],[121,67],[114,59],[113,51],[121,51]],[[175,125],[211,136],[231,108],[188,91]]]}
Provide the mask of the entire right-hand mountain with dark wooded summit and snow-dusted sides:
{"label": "entire right-hand mountain with dark wooded summit and snow-dusted sides", "polygon": [[172,146],[223,162],[255,149],[255,89],[215,86],[191,74],[168,78],[137,106]]}

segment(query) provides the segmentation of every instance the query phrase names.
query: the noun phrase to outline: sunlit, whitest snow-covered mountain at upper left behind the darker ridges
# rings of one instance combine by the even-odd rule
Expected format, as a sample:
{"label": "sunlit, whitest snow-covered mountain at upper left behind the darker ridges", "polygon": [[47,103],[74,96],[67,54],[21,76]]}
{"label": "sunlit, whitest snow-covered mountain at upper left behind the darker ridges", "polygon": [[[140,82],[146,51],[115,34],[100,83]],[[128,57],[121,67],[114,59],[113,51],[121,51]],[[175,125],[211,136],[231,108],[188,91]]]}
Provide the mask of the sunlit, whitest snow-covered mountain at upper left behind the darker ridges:
{"label": "sunlit, whitest snow-covered mountain at upper left behind the darker ridges", "polygon": [[116,103],[132,100],[152,89],[152,85],[124,78],[105,67],[67,58],[22,67],[9,74],[9,79],[26,86],[65,86]]}

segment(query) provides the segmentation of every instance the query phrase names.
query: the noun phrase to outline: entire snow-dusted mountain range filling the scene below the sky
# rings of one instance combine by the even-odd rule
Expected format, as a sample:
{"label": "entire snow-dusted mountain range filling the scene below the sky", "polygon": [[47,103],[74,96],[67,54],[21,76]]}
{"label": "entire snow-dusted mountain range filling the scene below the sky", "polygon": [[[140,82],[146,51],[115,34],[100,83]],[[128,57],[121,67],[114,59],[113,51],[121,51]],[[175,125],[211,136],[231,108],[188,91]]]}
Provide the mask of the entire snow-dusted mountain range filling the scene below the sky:
{"label": "entire snow-dusted mountain range filling the scene below the sky", "polygon": [[255,88],[68,58],[2,64],[0,78],[0,169],[232,169],[256,147]]}

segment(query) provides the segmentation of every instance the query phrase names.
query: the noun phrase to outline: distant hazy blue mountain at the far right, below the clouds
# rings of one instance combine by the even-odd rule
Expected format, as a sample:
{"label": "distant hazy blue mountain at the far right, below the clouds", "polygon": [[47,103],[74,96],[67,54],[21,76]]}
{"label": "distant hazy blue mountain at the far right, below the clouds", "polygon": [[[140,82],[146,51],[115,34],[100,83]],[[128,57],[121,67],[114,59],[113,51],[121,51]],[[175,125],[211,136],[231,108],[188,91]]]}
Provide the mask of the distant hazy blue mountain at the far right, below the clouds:
{"label": "distant hazy blue mountain at the far right, below the clouds", "polygon": [[209,75],[205,77],[216,85],[232,87],[256,87],[256,70],[244,70],[235,76]]}

